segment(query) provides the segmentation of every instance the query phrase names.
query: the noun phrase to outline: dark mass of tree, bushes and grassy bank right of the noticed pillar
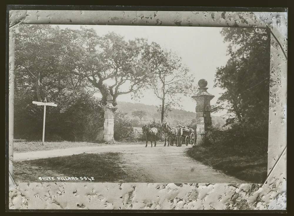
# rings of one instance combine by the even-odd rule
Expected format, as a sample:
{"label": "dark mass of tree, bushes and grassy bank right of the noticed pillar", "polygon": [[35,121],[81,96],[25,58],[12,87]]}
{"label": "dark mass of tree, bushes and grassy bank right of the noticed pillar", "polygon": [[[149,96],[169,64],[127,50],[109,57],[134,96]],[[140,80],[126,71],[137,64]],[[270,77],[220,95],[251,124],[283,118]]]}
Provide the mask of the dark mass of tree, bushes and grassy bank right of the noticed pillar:
{"label": "dark mass of tree, bushes and grassy bank right of the noticed pillar", "polygon": [[270,36],[265,29],[223,28],[230,56],[215,87],[225,90],[212,111],[228,110],[226,129],[208,127],[196,160],[240,179],[263,183],[267,175]]}

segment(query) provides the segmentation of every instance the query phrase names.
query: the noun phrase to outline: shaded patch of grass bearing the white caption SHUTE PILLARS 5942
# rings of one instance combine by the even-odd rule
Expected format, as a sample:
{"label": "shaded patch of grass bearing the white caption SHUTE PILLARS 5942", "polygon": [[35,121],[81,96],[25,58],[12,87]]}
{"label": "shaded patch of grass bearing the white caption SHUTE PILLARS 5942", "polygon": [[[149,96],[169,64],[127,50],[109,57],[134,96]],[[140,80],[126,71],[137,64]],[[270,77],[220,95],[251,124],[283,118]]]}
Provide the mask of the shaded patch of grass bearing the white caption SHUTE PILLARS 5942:
{"label": "shaded patch of grass bearing the white caption SHUTE PILLARS 5942", "polygon": [[[65,182],[90,182],[80,177],[93,177],[92,182],[123,182],[127,174],[120,166],[120,153],[74,154],[70,156],[14,162],[16,182],[58,182],[57,177],[78,177]],[[39,180],[55,177],[55,180]]]}

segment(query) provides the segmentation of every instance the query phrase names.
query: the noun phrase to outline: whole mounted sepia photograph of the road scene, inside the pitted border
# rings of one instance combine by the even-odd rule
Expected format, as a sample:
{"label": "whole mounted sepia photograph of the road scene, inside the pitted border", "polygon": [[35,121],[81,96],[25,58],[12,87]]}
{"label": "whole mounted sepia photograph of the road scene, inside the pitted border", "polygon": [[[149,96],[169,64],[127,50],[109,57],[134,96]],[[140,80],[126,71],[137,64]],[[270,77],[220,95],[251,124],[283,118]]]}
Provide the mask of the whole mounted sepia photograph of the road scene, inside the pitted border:
{"label": "whole mounted sepia photograph of the road scene, inside the pitted border", "polygon": [[266,29],[15,31],[16,181],[265,180]]}

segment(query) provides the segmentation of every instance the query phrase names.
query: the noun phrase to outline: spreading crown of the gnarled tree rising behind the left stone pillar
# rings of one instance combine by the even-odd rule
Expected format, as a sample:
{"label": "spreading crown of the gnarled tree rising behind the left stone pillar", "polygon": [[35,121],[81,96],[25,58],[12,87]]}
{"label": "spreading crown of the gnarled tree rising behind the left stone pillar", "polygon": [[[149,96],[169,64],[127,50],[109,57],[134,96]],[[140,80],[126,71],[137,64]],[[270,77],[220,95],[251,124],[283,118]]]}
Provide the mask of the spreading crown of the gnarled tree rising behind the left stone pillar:
{"label": "spreading crown of the gnarled tree rising behind the left stone pillar", "polygon": [[99,37],[91,29],[84,31],[91,32],[93,42],[78,61],[76,74],[86,78],[92,87],[98,89],[104,103],[107,94],[113,97],[113,105],[116,105],[119,95],[140,94],[151,77],[150,67],[144,57],[144,49],[149,46],[147,41],[125,41],[113,32]]}

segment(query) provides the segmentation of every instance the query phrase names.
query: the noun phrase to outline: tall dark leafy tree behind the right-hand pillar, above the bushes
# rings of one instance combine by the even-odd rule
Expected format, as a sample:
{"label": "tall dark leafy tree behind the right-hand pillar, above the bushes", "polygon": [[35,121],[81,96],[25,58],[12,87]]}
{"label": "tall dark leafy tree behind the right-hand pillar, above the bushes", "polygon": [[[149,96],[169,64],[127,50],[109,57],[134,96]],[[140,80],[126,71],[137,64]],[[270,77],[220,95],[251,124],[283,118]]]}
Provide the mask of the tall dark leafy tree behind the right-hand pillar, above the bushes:
{"label": "tall dark leafy tree behind the right-hand pillar, above the bushes", "polygon": [[[213,112],[228,110],[227,124],[262,123],[267,128],[269,103],[270,36],[265,29],[223,28],[230,56],[218,67],[214,87],[225,90]],[[263,126],[262,126],[263,127]]]}

